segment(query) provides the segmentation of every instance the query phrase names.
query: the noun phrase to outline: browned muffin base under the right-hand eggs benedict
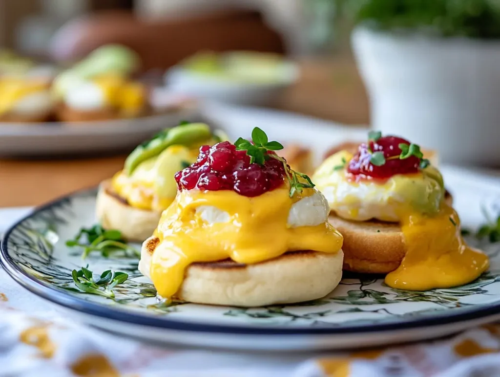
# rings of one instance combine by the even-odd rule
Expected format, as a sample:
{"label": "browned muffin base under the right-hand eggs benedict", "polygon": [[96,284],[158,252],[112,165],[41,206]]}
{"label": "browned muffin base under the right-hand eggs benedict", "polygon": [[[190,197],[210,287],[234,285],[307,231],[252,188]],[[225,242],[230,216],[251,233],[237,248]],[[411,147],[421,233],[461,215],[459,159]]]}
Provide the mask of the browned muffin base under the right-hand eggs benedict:
{"label": "browned muffin base under the right-hand eggs benedict", "polygon": [[[444,200],[452,204],[452,197],[446,191]],[[387,274],[401,264],[406,247],[401,227],[384,221],[352,221],[336,216],[328,217],[343,236],[343,269],[359,273]]]}

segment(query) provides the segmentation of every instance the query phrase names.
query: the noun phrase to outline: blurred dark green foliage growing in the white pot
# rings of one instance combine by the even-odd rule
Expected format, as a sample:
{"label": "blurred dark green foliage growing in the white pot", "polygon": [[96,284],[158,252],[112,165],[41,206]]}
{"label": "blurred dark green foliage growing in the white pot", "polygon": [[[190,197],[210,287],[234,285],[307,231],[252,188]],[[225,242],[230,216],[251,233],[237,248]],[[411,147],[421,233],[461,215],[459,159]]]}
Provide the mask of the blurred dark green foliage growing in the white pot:
{"label": "blurred dark green foliage growing in the white pot", "polygon": [[431,35],[500,38],[497,0],[347,0],[357,24],[379,30],[417,30]]}

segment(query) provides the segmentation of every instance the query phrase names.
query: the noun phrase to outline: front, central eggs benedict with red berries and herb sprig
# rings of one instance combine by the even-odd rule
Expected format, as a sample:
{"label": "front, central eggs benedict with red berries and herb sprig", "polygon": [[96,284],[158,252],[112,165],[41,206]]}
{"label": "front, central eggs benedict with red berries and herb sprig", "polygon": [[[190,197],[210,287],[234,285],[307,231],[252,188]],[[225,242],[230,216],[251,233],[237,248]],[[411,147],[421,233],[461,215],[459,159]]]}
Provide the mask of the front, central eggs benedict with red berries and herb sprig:
{"label": "front, central eggs benedict with red berries and herb sprig", "polygon": [[253,144],[217,143],[175,174],[177,195],[142,245],[139,270],[158,295],[260,306],[323,297],[340,281],[342,236],[310,179]]}

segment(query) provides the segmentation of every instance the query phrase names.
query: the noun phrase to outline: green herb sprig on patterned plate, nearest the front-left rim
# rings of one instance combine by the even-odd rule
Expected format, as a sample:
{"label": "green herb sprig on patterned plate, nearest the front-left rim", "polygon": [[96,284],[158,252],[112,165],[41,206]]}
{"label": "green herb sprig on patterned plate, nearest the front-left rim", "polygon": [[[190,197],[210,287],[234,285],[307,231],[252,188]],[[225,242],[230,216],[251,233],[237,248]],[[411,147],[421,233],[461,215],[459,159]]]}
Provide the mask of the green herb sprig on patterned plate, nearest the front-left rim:
{"label": "green herb sprig on patterned plate, nearest the front-left rim", "polygon": [[81,292],[114,298],[114,287],[125,282],[128,279],[128,274],[106,270],[98,278],[94,279],[94,274],[88,269],[87,264],[86,267],[81,267],[79,270],[72,270],[71,277],[73,278],[74,285]]}

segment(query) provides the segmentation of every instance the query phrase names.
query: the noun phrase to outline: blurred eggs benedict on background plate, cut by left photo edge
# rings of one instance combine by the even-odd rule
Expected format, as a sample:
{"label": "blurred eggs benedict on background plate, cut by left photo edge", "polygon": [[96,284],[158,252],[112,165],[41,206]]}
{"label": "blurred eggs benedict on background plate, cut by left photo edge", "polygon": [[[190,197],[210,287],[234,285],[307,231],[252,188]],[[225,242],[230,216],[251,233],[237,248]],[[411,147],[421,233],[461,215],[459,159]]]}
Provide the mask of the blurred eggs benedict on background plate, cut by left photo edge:
{"label": "blurred eggs benedict on background plate, cut by left photo edge", "polygon": [[28,77],[0,78],[0,121],[43,122],[53,110],[50,84]]}

